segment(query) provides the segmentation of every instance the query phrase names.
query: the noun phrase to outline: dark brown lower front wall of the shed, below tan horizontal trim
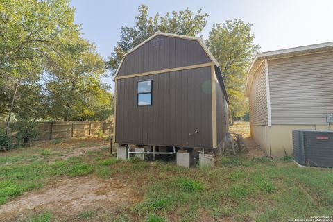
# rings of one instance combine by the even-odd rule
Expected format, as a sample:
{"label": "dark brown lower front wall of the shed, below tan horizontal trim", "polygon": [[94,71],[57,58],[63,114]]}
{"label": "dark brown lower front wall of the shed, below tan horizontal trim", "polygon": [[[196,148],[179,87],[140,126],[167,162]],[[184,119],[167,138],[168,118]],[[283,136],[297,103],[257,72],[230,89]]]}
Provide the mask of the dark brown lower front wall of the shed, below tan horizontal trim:
{"label": "dark brown lower front wall of the shed, below tan horizontal trim", "polygon": [[[138,80],[153,80],[151,106],[137,106]],[[211,95],[211,67],[119,79],[116,142],[212,148]]]}

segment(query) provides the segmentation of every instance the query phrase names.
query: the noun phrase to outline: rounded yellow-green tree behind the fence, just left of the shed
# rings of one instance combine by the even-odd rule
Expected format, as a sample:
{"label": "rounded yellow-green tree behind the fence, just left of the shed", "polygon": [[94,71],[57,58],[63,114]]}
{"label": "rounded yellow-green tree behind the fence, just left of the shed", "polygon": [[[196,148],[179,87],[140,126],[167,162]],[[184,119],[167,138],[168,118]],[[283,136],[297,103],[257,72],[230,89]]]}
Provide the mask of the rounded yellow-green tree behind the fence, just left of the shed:
{"label": "rounded yellow-green tree behind the fence, just left of the shed", "polygon": [[103,116],[101,110],[111,114],[111,94],[100,80],[106,73],[105,62],[95,48],[80,37],[68,40],[63,44],[62,58],[49,65],[46,88],[53,119],[94,119]]}

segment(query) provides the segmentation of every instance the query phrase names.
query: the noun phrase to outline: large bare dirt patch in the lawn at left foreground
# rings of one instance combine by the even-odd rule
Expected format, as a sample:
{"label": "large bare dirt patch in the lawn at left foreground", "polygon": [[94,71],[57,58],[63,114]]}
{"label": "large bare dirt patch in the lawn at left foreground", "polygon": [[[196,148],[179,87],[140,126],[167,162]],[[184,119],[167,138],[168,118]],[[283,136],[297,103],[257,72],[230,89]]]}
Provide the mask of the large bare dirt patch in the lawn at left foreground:
{"label": "large bare dirt patch in the lawn at left foreground", "polygon": [[31,191],[0,206],[0,221],[10,221],[27,211],[52,210],[60,215],[77,215],[97,205],[117,210],[135,201],[133,190],[112,178],[67,178],[37,191]]}

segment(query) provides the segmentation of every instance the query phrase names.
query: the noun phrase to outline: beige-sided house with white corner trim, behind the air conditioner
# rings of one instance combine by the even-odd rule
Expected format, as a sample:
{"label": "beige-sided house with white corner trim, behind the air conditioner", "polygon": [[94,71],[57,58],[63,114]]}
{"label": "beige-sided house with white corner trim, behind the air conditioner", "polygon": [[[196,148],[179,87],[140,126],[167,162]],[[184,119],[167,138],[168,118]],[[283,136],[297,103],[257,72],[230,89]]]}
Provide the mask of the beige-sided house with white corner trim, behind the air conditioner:
{"label": "beige-sided house with white corner trim, behind the air conditioner", "polygon": [[246,96],[251,135],[271,157],[292,153],[292,130],[333,130],[333,42],[257,53]]}

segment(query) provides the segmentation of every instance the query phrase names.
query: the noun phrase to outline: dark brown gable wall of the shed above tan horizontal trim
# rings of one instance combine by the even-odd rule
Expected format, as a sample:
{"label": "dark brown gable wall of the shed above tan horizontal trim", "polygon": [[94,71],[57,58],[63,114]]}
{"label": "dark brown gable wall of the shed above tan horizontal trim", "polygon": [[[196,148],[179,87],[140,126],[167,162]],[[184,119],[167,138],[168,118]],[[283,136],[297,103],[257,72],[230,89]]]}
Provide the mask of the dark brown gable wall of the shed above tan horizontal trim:
{"label": "dark brown gable wall of the shed above tan horizontal trim", "polygon": [[157,35],[125,56],[118,76],[211,62],[196,40]]}

